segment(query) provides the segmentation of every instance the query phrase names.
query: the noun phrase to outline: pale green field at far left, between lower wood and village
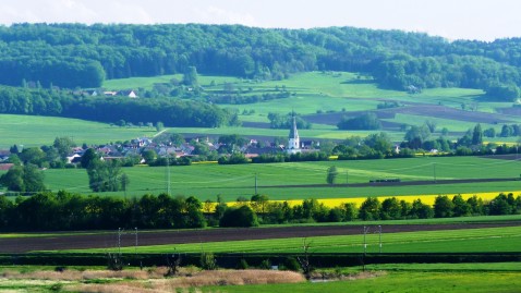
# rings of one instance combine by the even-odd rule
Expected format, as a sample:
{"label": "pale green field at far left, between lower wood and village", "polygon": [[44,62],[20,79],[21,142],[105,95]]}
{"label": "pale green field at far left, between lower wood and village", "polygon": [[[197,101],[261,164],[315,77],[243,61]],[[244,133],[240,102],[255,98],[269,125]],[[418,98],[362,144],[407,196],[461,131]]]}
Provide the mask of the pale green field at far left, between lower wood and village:
{"label": "pale green field at far left, between lower wood and village", "polygon": [[119,127],[78,119],[0,114],[0,149],[12,145],[52,145],[56,137],[71,137],[76,144],[107,144],[156,134],[153,127]]}

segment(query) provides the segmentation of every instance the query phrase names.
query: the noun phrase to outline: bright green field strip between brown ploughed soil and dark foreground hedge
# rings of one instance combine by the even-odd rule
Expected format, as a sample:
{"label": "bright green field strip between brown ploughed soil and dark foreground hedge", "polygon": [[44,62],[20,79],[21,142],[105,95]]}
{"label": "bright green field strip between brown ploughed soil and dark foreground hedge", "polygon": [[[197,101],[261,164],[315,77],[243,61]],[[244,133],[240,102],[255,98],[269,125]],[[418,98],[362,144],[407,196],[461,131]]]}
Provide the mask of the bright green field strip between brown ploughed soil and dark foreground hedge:
{"label": "bright green field strip between brown ploughed soil and dark foreground hedge", "polygon": [[[253,232],[254,230],[252,230]],[[366,235],[366,252],[379,253],[379,234],[376,229]],[[272,239],[228,242],[201,242],[154,246],[122,247],[123,253],[163,254],[178,253],[302,253],[302,239]],[[310,253],[363,253],[364,235],[307,237]],[[381,253],[487,253],[520,252],[521,227],[486,228],[465,230],[439,230],[403,233],[386,233],[381,225]],[[102,253],[107,248],[65,251],[65,253]]]}

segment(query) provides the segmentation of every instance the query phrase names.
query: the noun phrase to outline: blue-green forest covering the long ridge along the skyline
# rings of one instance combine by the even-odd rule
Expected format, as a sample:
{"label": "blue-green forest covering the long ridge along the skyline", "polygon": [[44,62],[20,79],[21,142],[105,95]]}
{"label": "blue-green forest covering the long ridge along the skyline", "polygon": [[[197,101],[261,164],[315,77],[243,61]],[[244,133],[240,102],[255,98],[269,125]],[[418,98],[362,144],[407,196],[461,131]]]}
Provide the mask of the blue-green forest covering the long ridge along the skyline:
{"label": "blue-green forest covering the long ridge along the skyline", "polygon": [[[353,27],[14,24],[0,27],[0,83],[99,86],[107,78],[199,73],[284,78],[312,70],[372,74],[381,86],[518,86],[521,39],[448,41]],[[68,76],[68,78],[62,78]],[[494,90],[490,90],[490,94]]]}

